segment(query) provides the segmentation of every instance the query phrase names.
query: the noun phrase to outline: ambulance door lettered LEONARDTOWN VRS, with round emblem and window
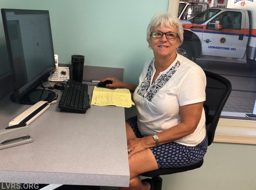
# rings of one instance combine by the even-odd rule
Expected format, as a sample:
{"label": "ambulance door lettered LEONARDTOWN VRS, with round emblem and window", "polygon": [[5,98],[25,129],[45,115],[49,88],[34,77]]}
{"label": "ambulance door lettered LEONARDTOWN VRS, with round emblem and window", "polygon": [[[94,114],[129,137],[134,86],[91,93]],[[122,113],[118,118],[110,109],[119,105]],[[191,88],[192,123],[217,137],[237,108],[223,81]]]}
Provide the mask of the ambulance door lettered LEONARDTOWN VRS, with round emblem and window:
{"label": "ambulance door lettered LEONARDTOWN VRS, with round emblem and window", "polygon": [[245,38],[245,18],[242,15],[240,11],[222,11],[205,22],[202,55],[242,58]]}

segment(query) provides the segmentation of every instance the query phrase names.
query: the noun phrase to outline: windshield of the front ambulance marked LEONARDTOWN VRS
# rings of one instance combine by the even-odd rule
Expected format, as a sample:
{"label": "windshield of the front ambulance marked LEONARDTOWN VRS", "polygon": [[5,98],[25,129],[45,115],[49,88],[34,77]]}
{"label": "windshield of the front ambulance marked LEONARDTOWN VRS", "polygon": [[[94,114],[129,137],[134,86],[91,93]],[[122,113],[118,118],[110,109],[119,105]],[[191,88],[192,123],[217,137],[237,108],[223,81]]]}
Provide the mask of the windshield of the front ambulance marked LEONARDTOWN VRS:
{"label": "windshield of the front ambulance marked LEONARDTOWN VRS", "polygon": [[188,19],[188,21],[190,21],[193,24],[201,25],[202,23],[205,23],[205,21],[207,21],[209,18],[216,15],[220,11],[221,9],[206,9],[202,13],[199,13],[198,15]]}

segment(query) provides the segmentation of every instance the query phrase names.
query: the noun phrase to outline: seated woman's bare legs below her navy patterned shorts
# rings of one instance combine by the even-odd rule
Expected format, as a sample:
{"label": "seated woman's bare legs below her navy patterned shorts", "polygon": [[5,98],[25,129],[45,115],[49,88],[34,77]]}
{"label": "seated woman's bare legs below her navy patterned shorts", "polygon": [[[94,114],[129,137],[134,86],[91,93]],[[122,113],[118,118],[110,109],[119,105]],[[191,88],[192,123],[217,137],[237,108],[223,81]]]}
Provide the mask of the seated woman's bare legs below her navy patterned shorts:
{"label": "seated woman's bare legs below her navy patterned shorts", "polygon": [[[136,138],[132,128],[129,124],[125,123],[126,126],[126,137],[127,141]],[[120,187],[120,190],[149,190],[150,184],[147,182],[141,183],[141,173],[157,170],[158,165],[156,159],[151,151],[147,148],[146,150],[135,153],[129,158],[129,169],[130,169],[130,184],[129,187]]]}

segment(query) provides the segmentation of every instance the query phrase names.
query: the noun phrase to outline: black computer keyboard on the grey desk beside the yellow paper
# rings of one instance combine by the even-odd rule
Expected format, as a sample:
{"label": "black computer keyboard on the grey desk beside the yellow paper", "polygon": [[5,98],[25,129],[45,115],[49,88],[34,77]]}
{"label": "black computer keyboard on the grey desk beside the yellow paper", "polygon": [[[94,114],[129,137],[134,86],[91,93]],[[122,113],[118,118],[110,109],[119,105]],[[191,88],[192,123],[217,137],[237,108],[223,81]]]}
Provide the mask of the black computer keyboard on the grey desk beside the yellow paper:
{"label": "black computer keyboard on the grey desk beside the yellow paper", "polygon": [[64,85],[64,91],[60,99],[59,108],[62,110],[86,113],[90,108],[87,84],[74,80],[68,80]]}

